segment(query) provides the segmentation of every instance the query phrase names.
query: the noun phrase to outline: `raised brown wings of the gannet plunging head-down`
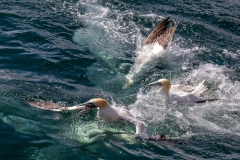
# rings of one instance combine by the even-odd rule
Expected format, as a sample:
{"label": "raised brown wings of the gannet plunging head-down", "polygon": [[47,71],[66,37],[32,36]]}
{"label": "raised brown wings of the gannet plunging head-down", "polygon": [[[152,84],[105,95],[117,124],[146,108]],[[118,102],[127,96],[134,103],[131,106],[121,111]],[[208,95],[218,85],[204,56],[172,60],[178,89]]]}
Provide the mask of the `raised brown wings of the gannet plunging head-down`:
{"label": "raised brown wings of the gannet plunging head-down", "polygon": [[145,45],[152,44],[156,41],[163,48],[168,46],[178,26],[178,23],[176,23],[174,26],[167,28],[168,24],[170,23],[169,19],[170,18],[168,17],[157,25],[157,27],[149,34]]}

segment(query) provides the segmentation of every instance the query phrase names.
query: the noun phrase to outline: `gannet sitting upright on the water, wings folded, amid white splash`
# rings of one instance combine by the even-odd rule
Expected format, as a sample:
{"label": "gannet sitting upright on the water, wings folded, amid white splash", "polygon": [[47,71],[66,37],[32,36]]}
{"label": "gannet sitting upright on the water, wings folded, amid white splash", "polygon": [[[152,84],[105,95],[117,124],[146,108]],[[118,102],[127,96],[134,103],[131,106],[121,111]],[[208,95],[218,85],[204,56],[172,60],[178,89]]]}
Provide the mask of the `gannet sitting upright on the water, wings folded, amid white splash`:
{"label": "gannet sitting upright on the water, wings folded, amid white splash", "polygon": [[[167,100],[176,101],[179,103],[204,103],[214,101],[217,99],[204,99],[198,95],[207,90],[204,86],[204,80],[195,88],[185,85],[173,85],[167,79],[160,79],[156,82],[147,84],[147,86],[160,86],[160,94],[162,94]],[[194,90],[193,90],[194,89]]]}

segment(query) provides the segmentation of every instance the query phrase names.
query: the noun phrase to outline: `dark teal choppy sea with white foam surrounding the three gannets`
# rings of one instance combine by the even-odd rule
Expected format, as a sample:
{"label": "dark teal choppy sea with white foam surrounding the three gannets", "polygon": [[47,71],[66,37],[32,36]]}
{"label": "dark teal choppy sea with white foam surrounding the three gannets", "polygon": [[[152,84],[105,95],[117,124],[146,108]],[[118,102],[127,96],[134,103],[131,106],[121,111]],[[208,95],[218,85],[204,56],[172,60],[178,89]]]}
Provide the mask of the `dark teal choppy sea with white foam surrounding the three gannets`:
{"label": "dark teal choppy sea with white foam surrounding the three gannets", "polygon": [[[136,52],[164,18],[179,22],[165,56],[123,89]],[[147,53],[146,53],[147,54]],[[205,104],[165,101],[146,84],[206,80]],[[51,112],[102,97],[148,124],[135,137],[97,111]],[[0,159],[240,159],[239,0],[1,0]]]}

